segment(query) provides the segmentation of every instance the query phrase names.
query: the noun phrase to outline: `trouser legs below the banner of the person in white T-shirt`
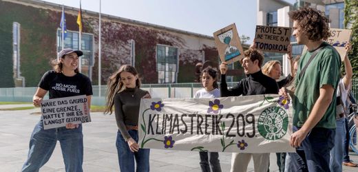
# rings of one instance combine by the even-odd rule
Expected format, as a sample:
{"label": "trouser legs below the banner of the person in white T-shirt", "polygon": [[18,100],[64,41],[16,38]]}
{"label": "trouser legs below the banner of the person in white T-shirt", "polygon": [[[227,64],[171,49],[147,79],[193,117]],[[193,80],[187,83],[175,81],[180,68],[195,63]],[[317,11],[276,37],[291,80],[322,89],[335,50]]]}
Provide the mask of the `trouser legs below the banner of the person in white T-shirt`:
{"label": "trouser legs below the banner of the person in white T-shirt", "polygon": [[[202,172],[221,172],[219,153],[218,152],[206,152],[200,151],[200,168]],[[210,167],[209,167],[210,162]]]}

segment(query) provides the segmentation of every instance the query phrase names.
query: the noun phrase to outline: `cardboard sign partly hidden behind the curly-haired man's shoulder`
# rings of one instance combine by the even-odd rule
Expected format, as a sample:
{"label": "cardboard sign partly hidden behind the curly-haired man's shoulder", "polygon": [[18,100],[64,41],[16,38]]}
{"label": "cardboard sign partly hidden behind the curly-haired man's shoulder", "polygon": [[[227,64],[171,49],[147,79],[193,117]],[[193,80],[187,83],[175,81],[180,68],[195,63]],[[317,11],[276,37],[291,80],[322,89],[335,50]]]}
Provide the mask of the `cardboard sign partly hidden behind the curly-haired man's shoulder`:
{"label": "cardboard sign partly hidden behind the curly-haired man's shoulder", "polygon": [[352,30],[330,28],[330,37],[326,42],[335,47],[341,56],[341,61],[344,61],[344,57],[347,54],[345,46],[349,43],[351,34]]}

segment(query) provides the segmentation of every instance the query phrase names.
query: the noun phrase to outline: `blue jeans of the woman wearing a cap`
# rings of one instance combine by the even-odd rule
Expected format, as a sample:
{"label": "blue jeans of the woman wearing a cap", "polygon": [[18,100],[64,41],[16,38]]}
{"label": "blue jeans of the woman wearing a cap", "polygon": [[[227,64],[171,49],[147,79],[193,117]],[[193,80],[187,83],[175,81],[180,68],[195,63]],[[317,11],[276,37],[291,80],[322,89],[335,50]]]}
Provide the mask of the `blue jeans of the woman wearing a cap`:
{"label": "blue jeans of the woman wearing a cap", "polygon": [[30,138],[28,160],[21,171],[39,171],[50,159],[56,142],[59,140],[67,172],[81,172],[83,162],[83,133],[82,125],[77,129],[43,129],[43,122],[34,127]]}

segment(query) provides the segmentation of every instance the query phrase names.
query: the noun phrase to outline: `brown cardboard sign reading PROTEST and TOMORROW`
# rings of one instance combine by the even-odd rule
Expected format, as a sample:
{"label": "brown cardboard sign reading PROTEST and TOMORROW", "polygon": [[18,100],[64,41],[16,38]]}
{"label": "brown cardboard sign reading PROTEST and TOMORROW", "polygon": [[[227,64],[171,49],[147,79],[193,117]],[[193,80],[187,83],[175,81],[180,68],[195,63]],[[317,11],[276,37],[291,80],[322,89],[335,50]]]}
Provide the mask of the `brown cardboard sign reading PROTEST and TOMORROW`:
{"label": "brown cardboard sign reading PROTEST and TOMORROW", "polygon": [[256,25],[256,48],[263,52],[287,52],[291,33],[291,28]]}

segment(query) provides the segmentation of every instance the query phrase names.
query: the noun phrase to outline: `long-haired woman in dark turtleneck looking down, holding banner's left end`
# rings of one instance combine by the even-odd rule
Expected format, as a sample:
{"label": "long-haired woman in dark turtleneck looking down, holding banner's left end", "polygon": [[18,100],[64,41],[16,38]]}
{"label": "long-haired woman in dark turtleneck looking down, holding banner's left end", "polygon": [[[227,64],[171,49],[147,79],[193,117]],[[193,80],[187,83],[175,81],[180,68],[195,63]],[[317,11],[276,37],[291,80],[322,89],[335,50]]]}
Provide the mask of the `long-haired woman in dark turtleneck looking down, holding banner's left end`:
{"label": "long-haired woman in dark turtleneck looking down, holding banner's left end", "polygon": [[151,98],[140,89],[136,68],[123,65],[109,77],[105,114],[112,114],[113,107],[118,126],[116,147],[120,171],[149,171],[149,149],[138,146],[138,114],[140,98]]}

